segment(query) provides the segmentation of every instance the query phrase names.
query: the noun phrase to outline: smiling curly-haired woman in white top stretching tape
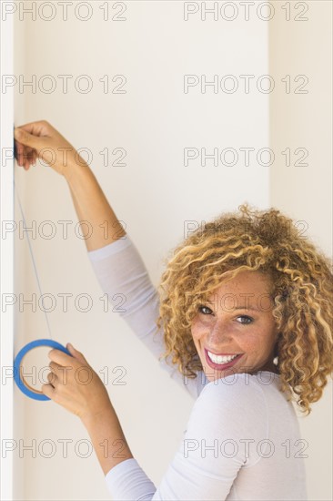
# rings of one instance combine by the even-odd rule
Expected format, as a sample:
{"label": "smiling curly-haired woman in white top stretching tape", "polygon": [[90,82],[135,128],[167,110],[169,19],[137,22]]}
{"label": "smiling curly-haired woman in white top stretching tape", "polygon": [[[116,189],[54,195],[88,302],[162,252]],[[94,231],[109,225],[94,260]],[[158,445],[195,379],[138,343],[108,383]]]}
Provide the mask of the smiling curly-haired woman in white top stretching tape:
{"label": "smiling curly-haired woman in white top stretching tape", "polygon": [[[309,414],[333,371],[328,258],[280,211],[244,205],[177,245],[157,294],[75,148],[46,121],[15,128],[15,147],[25,169],[43,158],[65,177],[78,219],[93,225],[86,247],[102,289],[109,298],[124,294],[119,314],[196,399],[156,488],[133,457],[106,388],[84,355],[71,344],[73,357],[49,353],[43,392],[86,426],[113,498],[306,500],[307,443],[292,400]],[[107,238],[104,221],[114,229]],[[86,366],[91,383],[77,383],[69,371],[65,384],[63,366]]]}

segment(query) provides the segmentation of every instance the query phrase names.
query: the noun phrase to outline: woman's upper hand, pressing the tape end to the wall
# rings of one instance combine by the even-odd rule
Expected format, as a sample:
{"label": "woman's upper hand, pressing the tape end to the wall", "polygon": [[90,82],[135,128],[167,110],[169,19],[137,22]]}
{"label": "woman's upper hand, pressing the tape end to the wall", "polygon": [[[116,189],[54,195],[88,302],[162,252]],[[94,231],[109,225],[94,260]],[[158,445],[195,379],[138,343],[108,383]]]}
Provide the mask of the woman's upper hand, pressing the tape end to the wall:
{"label": "woman's upper hand, pressing the tape end to the wall", "polygon": [[76,149],[46,120],[16,127],[14,138],[15,158],[25,170],[41,158],[55,172],[66,177],[75,164],[81,167],[86,164]]}

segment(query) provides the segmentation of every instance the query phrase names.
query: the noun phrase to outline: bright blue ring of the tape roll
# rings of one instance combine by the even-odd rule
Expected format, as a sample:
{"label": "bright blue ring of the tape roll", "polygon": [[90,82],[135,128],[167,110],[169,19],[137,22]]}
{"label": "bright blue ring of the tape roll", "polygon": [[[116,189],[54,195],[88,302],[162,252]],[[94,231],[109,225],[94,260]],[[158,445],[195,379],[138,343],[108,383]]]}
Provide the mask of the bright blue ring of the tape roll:
{"label": "bright blue ring of the tape roll", "polygon": [[60,343],[53,341],[52,339],[37,339],[32,341],[31,343],[25,344],[25,346],[17,353],[14,361],[14,380],[17,384],[18,388],[23,392],[26,396],[33,398],[35,400],[51,400],[48,396],[43,394],[42,392],[34,392],[30,389],[30,387],[26,386],[24,380],[21,378],[20,366],[22,360],[26,353],[33,350],[33,348],[37,348],[38,346],[50,346],[50,348],[55,348],[55,350],[60,350],[67,355],[72,356],[68,350]]}

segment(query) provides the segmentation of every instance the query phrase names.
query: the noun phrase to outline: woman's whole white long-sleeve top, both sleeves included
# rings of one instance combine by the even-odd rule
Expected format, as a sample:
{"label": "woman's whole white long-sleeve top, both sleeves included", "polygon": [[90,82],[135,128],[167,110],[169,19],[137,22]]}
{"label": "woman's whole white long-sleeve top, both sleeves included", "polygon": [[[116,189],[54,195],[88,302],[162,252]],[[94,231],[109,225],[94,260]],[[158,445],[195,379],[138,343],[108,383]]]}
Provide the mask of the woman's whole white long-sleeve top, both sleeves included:
{"label": "woman's whole white long-sleeve top, both sleeves included", "polygon": [[[128,233],[87,253],[109,301],[119,304],[117,294],[124,294],[120,316],[160,356],[163,332],[153,337],[157,291]],[[307,501],[308,443],[293,405],[278,389],[278,374],[237,373],[209,382],[203,372],[183,377],[165,359],[160,366],[196,399],[187,430],[157,488],[135,458],[114,466],[106,485],[115,501]]]}

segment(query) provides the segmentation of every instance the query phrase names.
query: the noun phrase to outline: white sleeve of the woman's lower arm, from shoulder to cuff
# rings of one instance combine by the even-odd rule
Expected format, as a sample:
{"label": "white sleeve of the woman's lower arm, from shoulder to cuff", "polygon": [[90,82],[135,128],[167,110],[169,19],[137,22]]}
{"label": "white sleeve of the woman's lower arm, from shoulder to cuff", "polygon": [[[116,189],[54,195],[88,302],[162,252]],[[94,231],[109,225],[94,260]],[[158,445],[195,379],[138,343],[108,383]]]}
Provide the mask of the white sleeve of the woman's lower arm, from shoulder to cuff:
{"label": "white sleeve of the woman's lower arm, from shoulder to cuff", "polygon": [[[208,383],[193,407],[186,434],[156,489],[135,458],[106,474],[117,501],[227,499],[238,472],[260,459],[253,442],[267,438],[267,409],[262,390],[238,374]],[[231,376],[232,378],[234,376]],[[221,383],[226,382],[228,384]],[[252,445],[252,446],[249,446]]]}

